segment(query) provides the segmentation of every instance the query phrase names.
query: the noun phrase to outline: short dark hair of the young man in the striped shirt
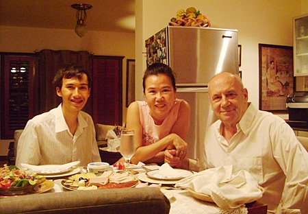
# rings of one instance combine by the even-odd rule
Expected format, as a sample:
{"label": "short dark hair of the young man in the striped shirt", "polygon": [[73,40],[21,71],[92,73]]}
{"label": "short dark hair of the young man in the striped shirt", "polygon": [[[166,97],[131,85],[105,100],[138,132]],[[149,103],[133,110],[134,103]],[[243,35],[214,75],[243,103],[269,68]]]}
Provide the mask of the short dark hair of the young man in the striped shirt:
{"label": "short dark hair of the young man in the striped shirt", "polygon": [[83,73],[88,77],[88,88],[91,88],[92,79],[90,73],[79,64],[66,64],[62,69],[59,69],[57,73],[55,73],[55,78],[53,78],[53,86],[55,86],[55,88],[62,88],[63,78],[76,78],[77,80],[81,80]]}

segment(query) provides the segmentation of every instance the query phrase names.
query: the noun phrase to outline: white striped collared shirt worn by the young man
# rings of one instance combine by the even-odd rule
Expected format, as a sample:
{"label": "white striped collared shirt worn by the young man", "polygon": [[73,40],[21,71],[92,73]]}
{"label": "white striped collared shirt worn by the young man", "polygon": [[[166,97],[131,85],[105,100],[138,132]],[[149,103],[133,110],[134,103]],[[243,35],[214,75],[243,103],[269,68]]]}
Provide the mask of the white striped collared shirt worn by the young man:
{"label": "white striped collared shirt worn by the young man", "polygon": [[16,166],[61,165],[80,160],[80,166],[101,161],[92,117],[79,112],[78,126],[71,134],[62,113],[62,104],[30,119],[18,141]]}

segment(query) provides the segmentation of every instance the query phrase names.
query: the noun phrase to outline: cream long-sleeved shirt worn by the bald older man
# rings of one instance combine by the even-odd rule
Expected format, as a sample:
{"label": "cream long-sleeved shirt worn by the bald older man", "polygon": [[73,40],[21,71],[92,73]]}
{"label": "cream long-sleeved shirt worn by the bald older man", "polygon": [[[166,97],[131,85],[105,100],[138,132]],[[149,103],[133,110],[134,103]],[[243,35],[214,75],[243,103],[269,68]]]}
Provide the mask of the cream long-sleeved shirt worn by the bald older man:
{"label": "cream long-sleeved shirt worn by the bald older man", "polygon": [[[268,211],[308,213],[308,154],[292,128],[280,117],[256,110],[253,104],[229,143],[222,136],[222,126],[220,120],[210,126],[203,156],[200,161],[190,160],[190,169],[223,165],[233,165],[235,173],[244,169],[264,188],[259,201],[268,204]],[[288,188],[283,194],[285,185]]]}

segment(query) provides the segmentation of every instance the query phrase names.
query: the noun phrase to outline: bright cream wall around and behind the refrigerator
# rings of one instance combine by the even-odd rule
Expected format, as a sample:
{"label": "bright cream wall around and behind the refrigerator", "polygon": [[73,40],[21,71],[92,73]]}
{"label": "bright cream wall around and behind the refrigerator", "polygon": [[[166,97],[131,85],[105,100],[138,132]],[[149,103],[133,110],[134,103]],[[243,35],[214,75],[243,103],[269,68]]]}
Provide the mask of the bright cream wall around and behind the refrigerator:
{"label": "bright cream wall around and behind the refrigerator", "polygon": [[[142,14],[142,36],[136,36],[136,82],[140,82],[146,68],[144,40],[168,25],[177,10],[194,6],[211,21],[211,27],[238,29],[238,42],[242,45],[242,78],[248,88],[249,100],[259,107],[259,55],[258,44],[292,45],[292,18],[308,10],[307,0],[136,0]],[[137,25],[136,25],[137,26]],[[206,48],[206,47],[205,47]],[[140,51],[142,49],[142,51]],[[137,51],[138,50],[138,51]],[[140,65],[142,64],[142,65]],[[139,78],[139,79],[138,79]],[[142,97],[142,85],[136,86],[136,97]],[[285,115],[283,115],[285,116]]]}

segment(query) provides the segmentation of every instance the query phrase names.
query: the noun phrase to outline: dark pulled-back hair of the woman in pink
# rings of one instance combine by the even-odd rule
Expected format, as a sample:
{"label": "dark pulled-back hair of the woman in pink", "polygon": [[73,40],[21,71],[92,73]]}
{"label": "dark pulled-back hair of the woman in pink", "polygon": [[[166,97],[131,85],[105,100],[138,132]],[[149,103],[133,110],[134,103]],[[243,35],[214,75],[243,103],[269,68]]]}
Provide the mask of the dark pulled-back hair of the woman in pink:
{"label": "dark pulled-back hair of the woman in pink", "polygon": [[151,75],[159,75],[164,74],[168,76],[172,82],[173,89],[177,91],[177,87],[175,86],[175,73],[172,71],[168,65],[156,62],[151,64],[149,67],[146,68],[146,71],[144,71],[143,80],[142,80],[142,86],[143,86],[143,93],[145,92],[145,80]]}

